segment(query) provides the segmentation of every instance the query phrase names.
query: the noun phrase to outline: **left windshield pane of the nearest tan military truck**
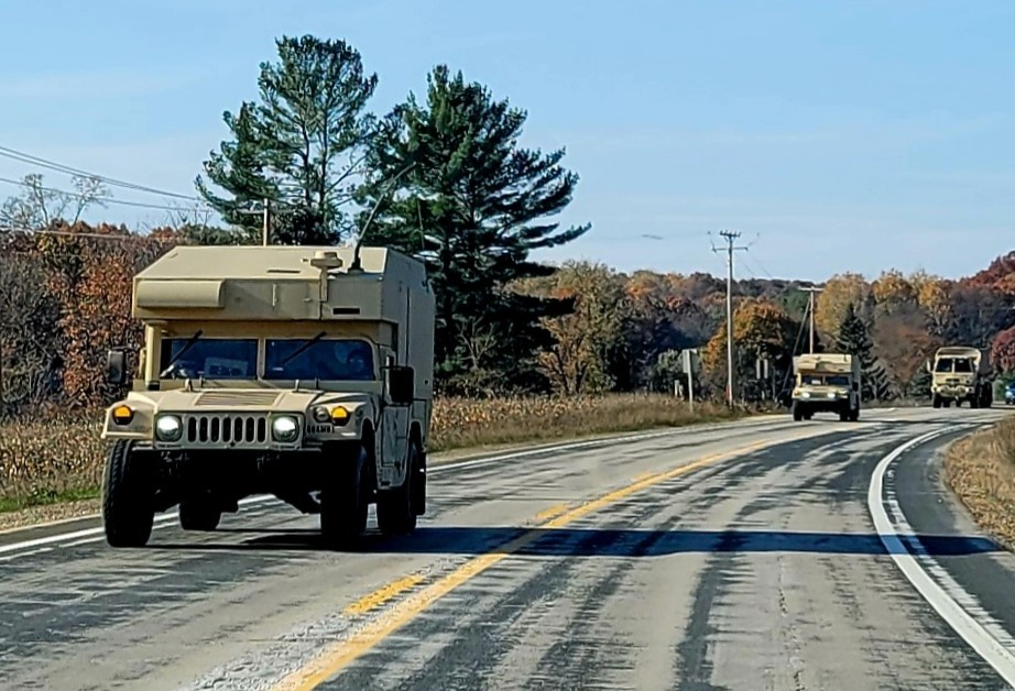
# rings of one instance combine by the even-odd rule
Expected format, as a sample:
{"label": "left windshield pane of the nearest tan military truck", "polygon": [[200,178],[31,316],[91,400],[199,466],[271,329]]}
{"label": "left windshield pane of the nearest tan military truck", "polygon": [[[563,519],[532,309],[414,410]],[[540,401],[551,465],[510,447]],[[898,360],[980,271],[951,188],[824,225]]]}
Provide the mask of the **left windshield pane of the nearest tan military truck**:
{"label": "left windshield pane of the nearest tan military truck", "polygon": [[[189,347],[187,347],[189,343]],[[173,359],[187,348],[183,355]],[[172,362],[172,364],[170,364]],[[166,338],[162,340],[162,375],[167,379],[245,380],[258,374],[257,339]]]}

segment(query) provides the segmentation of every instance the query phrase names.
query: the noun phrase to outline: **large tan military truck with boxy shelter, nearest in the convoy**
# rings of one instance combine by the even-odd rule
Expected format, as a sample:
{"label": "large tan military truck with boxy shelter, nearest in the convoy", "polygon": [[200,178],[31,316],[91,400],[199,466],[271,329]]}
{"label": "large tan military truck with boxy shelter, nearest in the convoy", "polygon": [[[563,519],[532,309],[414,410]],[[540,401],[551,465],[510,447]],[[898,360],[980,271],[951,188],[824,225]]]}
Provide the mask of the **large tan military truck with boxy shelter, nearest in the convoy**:
{"label": "large tan military truck with boxy shelter, nearest in the convoy", "polygon": [[[106,412],[102,519],[148,542],[179,506],[214,530],[245,496],[319,514],[352,546],[368,506],[385,534],[426,505],[435,303],[425,266],[384,248],[177,246],[133,278],[144,344]],[[127,352],[109,381],[128,384]]]}

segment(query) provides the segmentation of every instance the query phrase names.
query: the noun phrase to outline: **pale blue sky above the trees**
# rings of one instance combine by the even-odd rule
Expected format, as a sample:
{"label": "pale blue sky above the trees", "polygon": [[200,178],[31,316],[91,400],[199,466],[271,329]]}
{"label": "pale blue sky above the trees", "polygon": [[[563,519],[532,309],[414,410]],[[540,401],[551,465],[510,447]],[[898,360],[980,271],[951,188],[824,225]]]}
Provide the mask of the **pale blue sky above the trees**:
{"label": "pale blue sky above the trees", "polygon": [[[526,145],[566,146],[581,182],[560,220],[593,228],[545,260],[721,274],[724,228],[751,245],[742,276],[960,276],[1015,249],[1007,0],[0,0],[0,146],[160,189],[195,194],[274,39],[313,33],[361,52],[378,112],[446,63],[528,111]],[[0,177],[30,172],[0,158]]]}

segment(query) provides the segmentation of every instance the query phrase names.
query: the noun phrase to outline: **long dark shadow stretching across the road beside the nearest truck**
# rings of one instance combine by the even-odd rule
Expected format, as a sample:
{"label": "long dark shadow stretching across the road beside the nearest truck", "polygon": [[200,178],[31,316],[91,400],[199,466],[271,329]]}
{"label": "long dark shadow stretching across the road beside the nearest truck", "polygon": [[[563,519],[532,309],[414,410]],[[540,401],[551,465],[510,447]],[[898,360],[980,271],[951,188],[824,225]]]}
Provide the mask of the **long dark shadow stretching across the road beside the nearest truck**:
{"label": "long dark shadow stretching across the road beside the nearest truck", "polygon": [[[241,533],[241,531],[236,531]],[[151,549],[186,551],[327,550],[316,531],[262,533],[240,542],[160,544]],[[961,557],[1001,551],[985,538],[963,536],[917,536],[890,540],[893,552]],[[905,544],[905,545],[904,545]],[[367,553],[466,555],[510,552],[537,557],[665,557],[678,553],[816,553],[884,555],[888,549],[875,534],[793,533],[779,530],[624,530],[594,528],[421,527],[407,537],[384,537],[369,533],[360,549]]]}

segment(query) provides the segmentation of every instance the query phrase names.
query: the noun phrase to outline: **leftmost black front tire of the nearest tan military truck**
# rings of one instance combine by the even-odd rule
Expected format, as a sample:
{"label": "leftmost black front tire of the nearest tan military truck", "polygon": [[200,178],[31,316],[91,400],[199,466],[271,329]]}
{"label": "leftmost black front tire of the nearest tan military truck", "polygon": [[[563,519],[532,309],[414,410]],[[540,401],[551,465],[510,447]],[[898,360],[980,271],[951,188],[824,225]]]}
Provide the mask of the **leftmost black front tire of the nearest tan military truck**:
{"label": "leftmost black front tire of the nearest tan military truck", "polygon": [[119,440],[109,449],[102,476],[102,526],[110,547],[144,547],[152,536],[155,508],[151,459]]}

